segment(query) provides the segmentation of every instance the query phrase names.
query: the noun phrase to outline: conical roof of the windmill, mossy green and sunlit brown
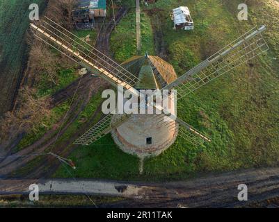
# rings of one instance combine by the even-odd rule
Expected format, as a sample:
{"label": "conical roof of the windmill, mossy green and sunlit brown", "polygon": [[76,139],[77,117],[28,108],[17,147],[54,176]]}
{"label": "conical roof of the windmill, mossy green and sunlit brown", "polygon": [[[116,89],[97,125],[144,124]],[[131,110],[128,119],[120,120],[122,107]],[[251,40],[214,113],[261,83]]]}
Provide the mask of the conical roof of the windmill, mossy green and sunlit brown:
{"label": "conical roof of the windmill, mossy green and sunlit brown", "polygon": [[158,56],[134,56],[122,66],[139,78],[136,89],[161,89],[177,79],[173,66]]}

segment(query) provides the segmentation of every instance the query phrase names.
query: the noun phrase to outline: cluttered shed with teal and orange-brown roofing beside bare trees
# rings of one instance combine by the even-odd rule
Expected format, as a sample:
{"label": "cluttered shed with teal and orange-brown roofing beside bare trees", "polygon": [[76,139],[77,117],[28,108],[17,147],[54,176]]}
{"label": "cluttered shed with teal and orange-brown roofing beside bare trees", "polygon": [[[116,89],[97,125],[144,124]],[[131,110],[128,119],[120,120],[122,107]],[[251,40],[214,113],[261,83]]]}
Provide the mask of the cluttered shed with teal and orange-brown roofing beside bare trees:
{"label": "cluttered shed with teal and orange-brown roofing beside bare trees", "polygon": [[79,0],[72,12],[74,23],[88,23],[95,17],[106,17],[106,0]]}

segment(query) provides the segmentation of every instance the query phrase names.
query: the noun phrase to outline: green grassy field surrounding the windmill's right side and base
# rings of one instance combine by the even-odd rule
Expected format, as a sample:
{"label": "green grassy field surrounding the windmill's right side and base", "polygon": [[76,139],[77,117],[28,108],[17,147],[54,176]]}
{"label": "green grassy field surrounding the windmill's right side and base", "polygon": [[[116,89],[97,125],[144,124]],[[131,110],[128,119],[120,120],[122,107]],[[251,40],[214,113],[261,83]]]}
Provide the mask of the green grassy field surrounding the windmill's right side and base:
{"label": "green grassy field surrounding the windmill's right side and base", "polygon": [[[255,24],[266,24],[266,37],[271,51],[267,56],[244,65],[191,94],[178,104],[179,117],[212,137],[211,144],[194,147],[177,139],[159,157],[145,161],[142,176],[138,174],[136,157],[122,153],[110,135],[88,147],[81,146],[70,156],[77,170],[70,171],[81,178],[122,180],[168,180],[195,176],[209,171],[230,171],[239,168],[273,166],[279,161],[278,124],[278,15],[273,1],[260,7],[249,1],[249,20],[237,20],[238,1],[187,1],[196,24],[194,31],[174,31],[168,15],[184,1],[159,0],[148,10],[159,8],[164,15],[162,30],[167,43],[168,62],[184,74],[199,62],[223,48]],[[240,2],[240,1],[239,1]],[[204,18],[202,24],[202,18]],[[129,12],[111,37],[115,59],[122,62],[136,55],[135,15]],[[154,53],[150,19],[145,18],[143,49]],[[122,40],[122,44],[119,44]],[[274,58],[277,58],[275,60]],[[56,177],[69,175],[61,167]]]}

